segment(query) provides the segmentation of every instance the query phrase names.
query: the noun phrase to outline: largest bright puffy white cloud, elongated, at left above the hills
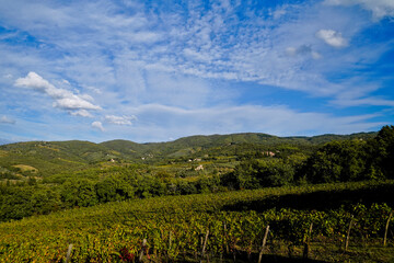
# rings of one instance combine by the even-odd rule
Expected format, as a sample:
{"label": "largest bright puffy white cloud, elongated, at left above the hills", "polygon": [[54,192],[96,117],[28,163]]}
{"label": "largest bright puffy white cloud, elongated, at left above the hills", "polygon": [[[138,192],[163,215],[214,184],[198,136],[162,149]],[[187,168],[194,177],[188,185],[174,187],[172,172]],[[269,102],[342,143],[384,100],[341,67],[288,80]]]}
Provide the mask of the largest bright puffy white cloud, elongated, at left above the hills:
{"label": "largest bright puffy white cloud, elongated, at left above the hills", "polygon": [[72,115],[91,116],[86,110],[101,110],[100,106],[86,100],[93,100],[91,96],[77,95],[68,90],[58,89],[35,72],[28,72],[25,78],[16,79],[14,84],[16,87],[34,89],[49,95],[55,101],[54,107],[70,111]]}

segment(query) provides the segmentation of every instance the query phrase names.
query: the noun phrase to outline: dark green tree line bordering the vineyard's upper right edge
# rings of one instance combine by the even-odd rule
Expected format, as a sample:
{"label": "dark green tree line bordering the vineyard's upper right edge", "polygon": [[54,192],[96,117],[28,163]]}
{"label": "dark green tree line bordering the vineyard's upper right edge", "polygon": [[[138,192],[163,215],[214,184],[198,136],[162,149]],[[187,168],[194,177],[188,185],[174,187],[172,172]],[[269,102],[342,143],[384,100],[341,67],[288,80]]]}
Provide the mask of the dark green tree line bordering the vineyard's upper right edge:
{"label": "dark green tree line bordering the vineyard's upper right edge", "polygon": [[327,142],[304,160],[292,155],[242,161],[221,178],[221,184],[241,190],[385,180],[394,179],[393,163],[394,126],[384,126],[374,138]]}

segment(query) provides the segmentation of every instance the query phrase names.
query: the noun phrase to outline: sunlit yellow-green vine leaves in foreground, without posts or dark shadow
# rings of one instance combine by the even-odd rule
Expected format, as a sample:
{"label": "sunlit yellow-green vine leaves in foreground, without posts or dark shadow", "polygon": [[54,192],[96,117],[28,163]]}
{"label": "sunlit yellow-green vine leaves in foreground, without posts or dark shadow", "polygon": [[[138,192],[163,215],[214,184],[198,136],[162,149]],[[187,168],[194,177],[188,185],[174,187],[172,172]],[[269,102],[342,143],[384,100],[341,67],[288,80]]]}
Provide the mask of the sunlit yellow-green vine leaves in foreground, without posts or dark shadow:
{"label": "sunlit yellow-green vine leaves in foreground, without posts or dark shadow", "polygon": [[[267,245],[283,254],[286,252],[275,245],[285,243],[300,248],[304,244],[311,222],[312,241],[320,245],[317,248],[327,247],[314,254],[315,260],[333,261],[329,259],[338,250],[337,245],[344,244],[343,237],[351,217],[355,222],[351,241],[355,243],[358,237],[362,237],[364,247],[360,247],[366,250],[368,243],[374,244],[375,240],[382,239],[392,206],[384,203],[354,204],[320,210],[310,199],[308,209],[282,206],[256,211],[232,210],[229,207],[322,191],[336,195],[338,191],[378,187],[379,193],[379,186],[393,185],[393,181],[357,182],[165,196],[53,213],[0,224],[0,262],[62,262],[70,243],[73,244],[72,262],[132,262],[142,251],[143,239],[148,241],[146,255],[149,254],[150,260],[186,262],[194,258],[196,251],[201,251],[200,240],[207,230],[206,253],[210,259],[227,252],[237,255],[241,252],[258,253],[267,225],[270,226]],[[392,253],[390,251],[392,247],[386,248],[383,255]],[[358,261],[355,256],[355,251],[339,252],[335,260]],[[372,262],[383,261],[382,254],[369,254],[369,259]]]}

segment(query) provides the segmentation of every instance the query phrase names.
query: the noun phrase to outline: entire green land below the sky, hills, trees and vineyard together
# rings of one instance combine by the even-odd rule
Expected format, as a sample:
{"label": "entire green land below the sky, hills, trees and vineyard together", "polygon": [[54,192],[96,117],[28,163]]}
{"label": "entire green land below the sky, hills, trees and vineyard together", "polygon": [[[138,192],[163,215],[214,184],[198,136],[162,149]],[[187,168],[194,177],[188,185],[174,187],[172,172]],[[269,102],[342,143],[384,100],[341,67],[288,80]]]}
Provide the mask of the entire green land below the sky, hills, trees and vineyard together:
{"label": "entire green land below the sky, hills, trees and vineyard together", "polygon": [[394,126],[0,146],[0,262],[390,262],[393,163]]}

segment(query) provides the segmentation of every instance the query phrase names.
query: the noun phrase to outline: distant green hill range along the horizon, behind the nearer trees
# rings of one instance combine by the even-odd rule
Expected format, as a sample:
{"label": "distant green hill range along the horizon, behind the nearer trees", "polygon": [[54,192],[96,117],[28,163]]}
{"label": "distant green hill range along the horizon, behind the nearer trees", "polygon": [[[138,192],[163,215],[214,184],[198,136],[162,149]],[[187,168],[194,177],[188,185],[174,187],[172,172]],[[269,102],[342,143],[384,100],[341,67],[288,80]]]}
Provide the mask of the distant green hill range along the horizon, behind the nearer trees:
{"label": "distant green hill range along the horizon, behind the nearer trees", "polygon": [[376,133],[352,135],[321,135],[313,137],[277,137],[267,134],[244,133],[230,135],[189,136],[167,142],[137,144],[129,140],[90,141],[28,141],[0,146],[0,168],[28,165],[40,175],[84,169],[101,161],[126,160],[141,162],[198,155],[237,145],[259,145],[275,148],[279,145],[316,146],[332,140],[367,139]]}

